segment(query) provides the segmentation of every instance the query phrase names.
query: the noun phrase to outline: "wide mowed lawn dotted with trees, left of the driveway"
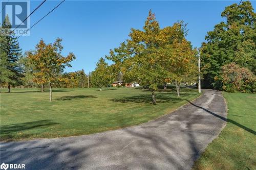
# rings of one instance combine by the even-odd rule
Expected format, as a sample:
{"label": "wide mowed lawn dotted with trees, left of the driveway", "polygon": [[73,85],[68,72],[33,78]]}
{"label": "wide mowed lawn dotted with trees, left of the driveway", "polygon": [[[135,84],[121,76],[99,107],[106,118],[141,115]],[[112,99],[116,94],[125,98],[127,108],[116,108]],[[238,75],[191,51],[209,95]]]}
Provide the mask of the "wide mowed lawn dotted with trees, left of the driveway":
{"label": "wide mowed lawn dotted with trees, left of the driveway", "polygon": [[1,89],[1,140],[27,140],[92,134],[138,125],[167,114],[193,100],[199,93],[182,88],[156,92],[135,88]]}

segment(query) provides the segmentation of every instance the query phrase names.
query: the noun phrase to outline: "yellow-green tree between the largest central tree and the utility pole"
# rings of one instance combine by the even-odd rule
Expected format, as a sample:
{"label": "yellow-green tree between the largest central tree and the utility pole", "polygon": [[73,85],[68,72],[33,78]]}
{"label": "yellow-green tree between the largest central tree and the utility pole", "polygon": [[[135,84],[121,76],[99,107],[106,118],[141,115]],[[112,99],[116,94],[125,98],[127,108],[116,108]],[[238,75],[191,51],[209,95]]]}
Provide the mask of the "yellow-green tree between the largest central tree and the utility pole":
{"label": "yellow-green tree between the largest central tree and the utility pole", "polygon": [[160,55],[163,67],[167,70],[164,81],[175,82],[178,96],[180,96],[180,83],[188,83],[196,79],[197,75],[197,51],[186,40],[186,35],[186,24],[180,21],[174,23],[172,27],[162,29],[160,36]]}

